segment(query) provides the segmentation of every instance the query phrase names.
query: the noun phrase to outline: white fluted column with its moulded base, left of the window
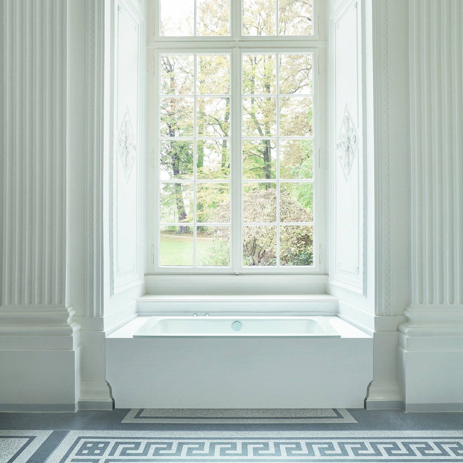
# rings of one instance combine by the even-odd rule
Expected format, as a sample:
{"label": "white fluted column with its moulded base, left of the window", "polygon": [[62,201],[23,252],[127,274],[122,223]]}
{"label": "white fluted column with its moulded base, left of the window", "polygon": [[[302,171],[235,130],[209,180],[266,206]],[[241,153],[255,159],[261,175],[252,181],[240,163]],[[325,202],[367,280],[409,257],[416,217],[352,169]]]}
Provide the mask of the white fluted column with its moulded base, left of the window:
{"label": "white fluted column with its moulded base, left of the window", "polygon": [[0,409],[74,409],[80,326],[67,281],[67,2],[4,0],[0,14]]}

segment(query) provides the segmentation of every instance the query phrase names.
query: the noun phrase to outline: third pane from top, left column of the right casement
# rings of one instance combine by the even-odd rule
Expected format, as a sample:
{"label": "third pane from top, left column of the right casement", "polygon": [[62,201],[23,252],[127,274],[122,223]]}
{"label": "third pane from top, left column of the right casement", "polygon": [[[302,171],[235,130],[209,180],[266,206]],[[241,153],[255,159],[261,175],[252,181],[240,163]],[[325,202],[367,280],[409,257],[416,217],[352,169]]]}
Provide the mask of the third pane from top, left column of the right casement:
{"label": "third pane from top, left column of the right casement", "polygon": [[275,140],[243,140],[243,178],[272,179],[276,177]]}

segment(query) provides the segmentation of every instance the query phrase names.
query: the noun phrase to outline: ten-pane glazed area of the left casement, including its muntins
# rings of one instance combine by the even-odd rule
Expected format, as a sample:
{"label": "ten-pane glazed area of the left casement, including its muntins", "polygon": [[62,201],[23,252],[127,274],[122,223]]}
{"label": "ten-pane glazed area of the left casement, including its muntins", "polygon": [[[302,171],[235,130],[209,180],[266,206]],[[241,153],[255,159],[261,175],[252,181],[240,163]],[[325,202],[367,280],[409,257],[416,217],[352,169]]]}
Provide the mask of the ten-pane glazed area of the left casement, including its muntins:
{"label": "ten-pane glazed area of the left casement, including its muntins", "polygon": [[230,61],[159,57],[160,266],[230,266]]}

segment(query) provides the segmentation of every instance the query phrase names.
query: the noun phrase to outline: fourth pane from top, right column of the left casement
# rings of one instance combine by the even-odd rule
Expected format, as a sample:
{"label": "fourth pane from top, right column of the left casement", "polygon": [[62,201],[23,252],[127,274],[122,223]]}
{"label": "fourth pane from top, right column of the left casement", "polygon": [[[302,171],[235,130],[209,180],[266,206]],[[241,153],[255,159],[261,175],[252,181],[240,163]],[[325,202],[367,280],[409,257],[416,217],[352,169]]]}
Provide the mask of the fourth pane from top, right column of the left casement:
{"label": "fourth pane from top, right column of the left casement", "polygon": [[230,222],[230,183],[196,185],[196,221]]}

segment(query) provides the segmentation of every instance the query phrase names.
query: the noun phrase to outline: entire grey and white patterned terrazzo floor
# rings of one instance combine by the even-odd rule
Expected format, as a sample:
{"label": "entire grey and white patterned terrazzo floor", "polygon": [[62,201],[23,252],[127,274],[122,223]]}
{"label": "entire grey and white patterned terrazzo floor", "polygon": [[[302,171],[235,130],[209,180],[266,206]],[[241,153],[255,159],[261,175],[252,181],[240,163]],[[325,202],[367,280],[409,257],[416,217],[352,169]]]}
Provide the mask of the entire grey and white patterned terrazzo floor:
{"label": "entire grey and white patterned terrazzo floor", "polygon": [[463,413],[0,413],[0,463],[463,462]]}

